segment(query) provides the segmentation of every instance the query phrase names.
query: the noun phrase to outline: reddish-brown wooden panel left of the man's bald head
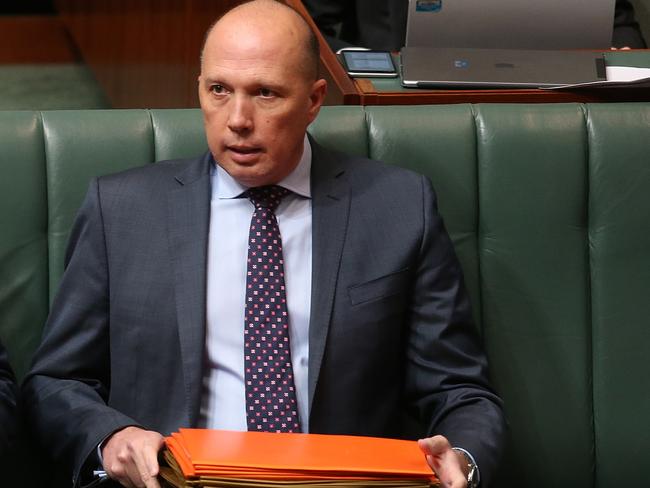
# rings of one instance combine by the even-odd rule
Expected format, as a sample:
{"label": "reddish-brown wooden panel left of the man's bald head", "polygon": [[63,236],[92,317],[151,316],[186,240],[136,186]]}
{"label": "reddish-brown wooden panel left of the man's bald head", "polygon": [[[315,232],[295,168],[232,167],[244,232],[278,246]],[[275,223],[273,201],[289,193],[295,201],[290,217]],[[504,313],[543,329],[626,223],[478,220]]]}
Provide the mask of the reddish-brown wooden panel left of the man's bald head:
{"label": "reddish-brown wooden panel left of the man's bald head", "polygon": [[57,0],[56,7],[115,108],[198,107],[207,28],[241,1]]}

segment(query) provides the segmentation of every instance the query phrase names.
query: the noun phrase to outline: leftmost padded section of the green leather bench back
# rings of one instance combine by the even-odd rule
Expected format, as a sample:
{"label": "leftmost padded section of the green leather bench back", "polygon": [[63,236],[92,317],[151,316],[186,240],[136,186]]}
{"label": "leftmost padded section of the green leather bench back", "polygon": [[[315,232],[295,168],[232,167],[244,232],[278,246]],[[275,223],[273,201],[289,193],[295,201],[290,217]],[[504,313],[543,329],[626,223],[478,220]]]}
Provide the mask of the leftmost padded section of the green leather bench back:
{"label": "leftmost padded section of the green leather bench back", "polygon": [[47,191],[40,117],[0,112],[0,339],[20,377],[47,317]]}

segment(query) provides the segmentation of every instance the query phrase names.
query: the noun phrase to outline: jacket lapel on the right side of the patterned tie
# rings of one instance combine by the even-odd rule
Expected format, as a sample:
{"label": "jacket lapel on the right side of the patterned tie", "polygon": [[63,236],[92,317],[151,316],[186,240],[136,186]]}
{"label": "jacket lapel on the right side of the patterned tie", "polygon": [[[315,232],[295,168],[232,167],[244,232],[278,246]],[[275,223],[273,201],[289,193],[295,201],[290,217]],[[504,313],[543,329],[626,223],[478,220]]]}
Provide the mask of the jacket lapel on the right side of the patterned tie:
{"label": "jacket lapel on the right side of the patterned tie", "polygon": [[309,321],[309,411],[325,354],[345,242],[350,190],[341,158],[312,144],[312,287]]}

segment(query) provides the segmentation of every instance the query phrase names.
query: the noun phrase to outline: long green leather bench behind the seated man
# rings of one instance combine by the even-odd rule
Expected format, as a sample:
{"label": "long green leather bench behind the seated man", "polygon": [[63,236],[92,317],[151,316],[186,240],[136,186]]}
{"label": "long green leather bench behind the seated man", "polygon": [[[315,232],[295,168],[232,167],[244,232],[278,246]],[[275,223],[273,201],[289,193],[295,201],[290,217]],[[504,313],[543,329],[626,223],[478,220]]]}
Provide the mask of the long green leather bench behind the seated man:
{"label": "long green leather bench behind the seated man", "polygon": [[[650,104],[327,107],[311,132],[432,179],[510,424],[497,486],[650,483]],[[89,178],[205,139],[197,110],[0,112],[0,147],[22,377]]]}

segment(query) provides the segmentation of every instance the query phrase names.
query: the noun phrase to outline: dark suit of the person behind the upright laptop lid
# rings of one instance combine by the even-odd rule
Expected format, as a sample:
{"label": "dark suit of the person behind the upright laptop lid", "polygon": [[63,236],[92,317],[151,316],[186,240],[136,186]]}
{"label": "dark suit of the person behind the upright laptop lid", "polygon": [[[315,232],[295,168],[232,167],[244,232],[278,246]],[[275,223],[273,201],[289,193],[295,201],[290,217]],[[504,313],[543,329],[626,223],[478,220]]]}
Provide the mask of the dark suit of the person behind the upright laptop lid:
{"label": "dark suit of the person behind the upright laptop lid", "polygon": [[[406,39],[408,0],[304,0],[332,50],[362,46],[398,51]],[[616,0],[614,47],[645,48],[628,0]]]}

